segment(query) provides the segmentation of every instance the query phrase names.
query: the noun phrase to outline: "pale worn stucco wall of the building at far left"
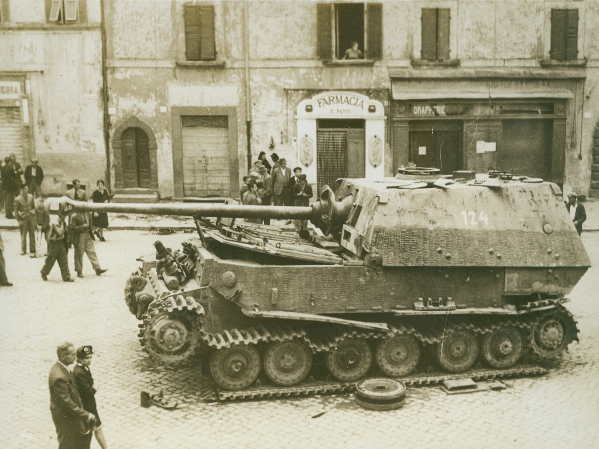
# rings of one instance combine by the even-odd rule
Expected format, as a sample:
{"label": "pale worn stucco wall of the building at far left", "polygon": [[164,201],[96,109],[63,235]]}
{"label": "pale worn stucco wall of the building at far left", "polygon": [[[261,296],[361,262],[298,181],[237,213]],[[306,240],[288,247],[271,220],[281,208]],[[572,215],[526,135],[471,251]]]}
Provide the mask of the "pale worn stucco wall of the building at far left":
{"label": "pale worn stucco wall of the building at far left", "polygon": [[[46,25],[43,1],[12,0],[0,28],[0,71],[25,73],[32,145],[46,174],[43,193],[63,193],[80,178],[105,177],[99,1],[87,0],[86,23]],[[0,72],[1,73],[1,72]]]}

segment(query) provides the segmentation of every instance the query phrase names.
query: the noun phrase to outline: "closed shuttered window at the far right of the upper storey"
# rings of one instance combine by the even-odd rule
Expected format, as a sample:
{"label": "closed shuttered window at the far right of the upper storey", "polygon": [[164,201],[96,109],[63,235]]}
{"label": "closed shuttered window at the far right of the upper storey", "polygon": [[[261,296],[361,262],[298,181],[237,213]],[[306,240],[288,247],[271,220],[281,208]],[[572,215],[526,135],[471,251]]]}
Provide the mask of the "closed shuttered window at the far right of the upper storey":
{"label": "closed shuttered window at the far right of the upper storey", "polygon": [[551,10],[551,59],[578,56],[578,10]]}

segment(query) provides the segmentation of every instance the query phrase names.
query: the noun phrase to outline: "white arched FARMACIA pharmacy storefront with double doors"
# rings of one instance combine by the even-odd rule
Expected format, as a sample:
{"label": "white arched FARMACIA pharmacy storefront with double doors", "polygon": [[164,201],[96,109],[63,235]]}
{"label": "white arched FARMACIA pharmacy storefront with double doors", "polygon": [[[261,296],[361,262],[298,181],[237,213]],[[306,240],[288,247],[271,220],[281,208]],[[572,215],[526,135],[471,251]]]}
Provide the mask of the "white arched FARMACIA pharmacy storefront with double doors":
{"label": "white arched FARMACIA pharmacy storefront with double doors", "polygon": [[355,92],[323,92],[297,107],[297,160],[317,188],[385,175],[385,110]]}

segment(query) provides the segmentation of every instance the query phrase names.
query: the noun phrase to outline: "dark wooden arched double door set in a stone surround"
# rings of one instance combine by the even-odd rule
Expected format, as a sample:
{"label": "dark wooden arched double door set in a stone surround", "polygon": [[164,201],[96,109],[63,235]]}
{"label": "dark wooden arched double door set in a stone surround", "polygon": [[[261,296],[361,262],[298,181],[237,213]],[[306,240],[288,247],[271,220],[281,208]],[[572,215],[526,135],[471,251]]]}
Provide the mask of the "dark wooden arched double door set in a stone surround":
{"label": "dark wooden arched double door set in a stone surround", "polygon": [[146,132],[141,128],[127,128],[121,137],[123,187],[125,189],[150,187],[150,149]]}

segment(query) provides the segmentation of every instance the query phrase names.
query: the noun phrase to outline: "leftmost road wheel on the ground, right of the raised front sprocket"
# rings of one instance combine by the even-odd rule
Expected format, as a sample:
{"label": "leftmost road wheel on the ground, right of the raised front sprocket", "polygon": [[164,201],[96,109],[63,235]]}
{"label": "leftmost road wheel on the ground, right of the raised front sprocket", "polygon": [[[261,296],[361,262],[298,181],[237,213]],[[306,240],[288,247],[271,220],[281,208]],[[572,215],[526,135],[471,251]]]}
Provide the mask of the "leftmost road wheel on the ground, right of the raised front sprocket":
{"label": "leftmost road wheel on the ground, right of the raised front sprocket", "polygon": [[210,356],[210,371],[221,387],[241,390],[252,385],[258,378],[260,356],[258,351],[249,345],[220,348]]}

